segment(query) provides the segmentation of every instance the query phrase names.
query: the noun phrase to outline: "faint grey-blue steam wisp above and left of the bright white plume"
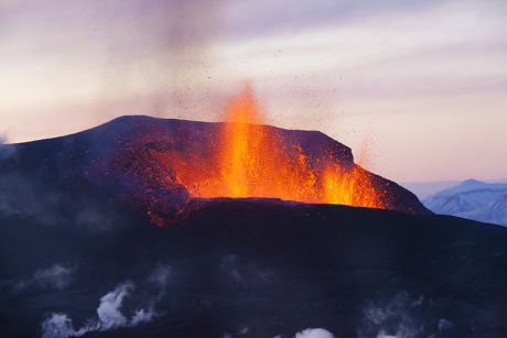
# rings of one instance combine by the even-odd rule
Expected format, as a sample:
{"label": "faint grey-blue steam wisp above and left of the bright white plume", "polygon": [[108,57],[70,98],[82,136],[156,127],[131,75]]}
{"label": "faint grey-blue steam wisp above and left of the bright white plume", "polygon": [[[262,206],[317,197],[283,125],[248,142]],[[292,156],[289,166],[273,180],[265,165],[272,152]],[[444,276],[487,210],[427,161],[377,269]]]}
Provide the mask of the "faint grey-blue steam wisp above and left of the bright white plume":
{"label": "faint grey-blue steam wisp above and left of the bright white plume", "polygon": [[35,273],[30,279],[13,282],[12,284],[15,291],[23,291],[31,286],[62,290],[71,283],[73,272],[73,268],[54,264],[51,268],[35,271]]}

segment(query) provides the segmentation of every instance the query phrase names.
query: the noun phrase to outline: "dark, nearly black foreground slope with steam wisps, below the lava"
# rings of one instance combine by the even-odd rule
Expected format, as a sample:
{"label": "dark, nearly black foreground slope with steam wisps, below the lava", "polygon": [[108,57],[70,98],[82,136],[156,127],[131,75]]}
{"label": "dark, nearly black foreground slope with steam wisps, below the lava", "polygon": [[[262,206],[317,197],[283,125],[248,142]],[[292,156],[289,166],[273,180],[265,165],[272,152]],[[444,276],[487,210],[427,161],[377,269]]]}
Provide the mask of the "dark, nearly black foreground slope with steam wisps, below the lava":
{"label": "dark, nearly black foreground slope with steam wisps, below the lava", "polygon": [[[172,229],[114,207],[89,206],[96,228],[1,216],[0,336],[40,336],[55,313],[90,337],[507,335],[505,228],[266,199],[193,204]],[[121,291],[118,312],[99,306]],[[150,320],[133,319],[141,308]]]}

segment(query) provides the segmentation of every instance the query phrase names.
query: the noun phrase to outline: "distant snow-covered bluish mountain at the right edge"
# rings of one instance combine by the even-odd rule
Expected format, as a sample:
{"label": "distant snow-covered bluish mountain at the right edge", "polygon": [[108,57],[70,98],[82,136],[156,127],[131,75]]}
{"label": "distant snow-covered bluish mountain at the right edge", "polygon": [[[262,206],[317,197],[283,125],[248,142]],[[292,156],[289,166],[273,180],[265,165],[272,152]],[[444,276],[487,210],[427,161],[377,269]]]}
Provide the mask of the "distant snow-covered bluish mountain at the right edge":
{"label": "distant snow-covered bluish mountain at the right edge", "polygon": [[422,203],[436,214],[507,226],[507,184],[468,179]]}

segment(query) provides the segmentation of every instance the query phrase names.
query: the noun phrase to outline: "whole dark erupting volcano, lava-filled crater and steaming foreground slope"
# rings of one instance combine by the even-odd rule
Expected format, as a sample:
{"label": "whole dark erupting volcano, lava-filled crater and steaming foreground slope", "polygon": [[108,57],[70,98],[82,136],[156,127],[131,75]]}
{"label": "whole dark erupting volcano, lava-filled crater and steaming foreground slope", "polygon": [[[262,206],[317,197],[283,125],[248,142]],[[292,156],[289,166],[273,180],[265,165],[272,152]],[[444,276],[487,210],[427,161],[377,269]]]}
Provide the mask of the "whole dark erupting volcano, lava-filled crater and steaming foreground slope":
{"label": "whole dark erupting volcano, lava-filled crater and steaming foreground slope", "polygon": [[507,229],[255,122],[131,116],[2,145],[1,336],[507,335]]}

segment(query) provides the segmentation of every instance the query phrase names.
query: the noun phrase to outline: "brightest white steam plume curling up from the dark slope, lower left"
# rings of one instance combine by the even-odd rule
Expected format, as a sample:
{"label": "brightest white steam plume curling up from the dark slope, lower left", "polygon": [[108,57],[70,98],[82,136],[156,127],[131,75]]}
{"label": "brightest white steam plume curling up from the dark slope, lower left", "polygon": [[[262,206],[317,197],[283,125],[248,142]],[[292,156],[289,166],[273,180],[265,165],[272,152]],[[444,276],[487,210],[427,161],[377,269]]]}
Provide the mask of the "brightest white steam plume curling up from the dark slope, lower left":
{"label": "brightest white steam plume curling up from the dark slope, lower left", "polygon": [[154,307],[165,295],[171,275],[170,266],[157,266],[149,276],[148,282],[154,283],[160,287],[159,293],[150,299],[148,308],[137,309],[130,319],[121,313],[121,306],[123,299],[133,292],[136,285],[130,281],[126,281],[100,298],[99,306],[97,307],[97,318],[88,319],[84,327],[76,330],[74,329],[72,319],[66,314],[53,313],[41,324],[42,337],[79,337],[90,331],[107,331],[120,327],[133,327],[141,323],[151,321],[159,315]]}

